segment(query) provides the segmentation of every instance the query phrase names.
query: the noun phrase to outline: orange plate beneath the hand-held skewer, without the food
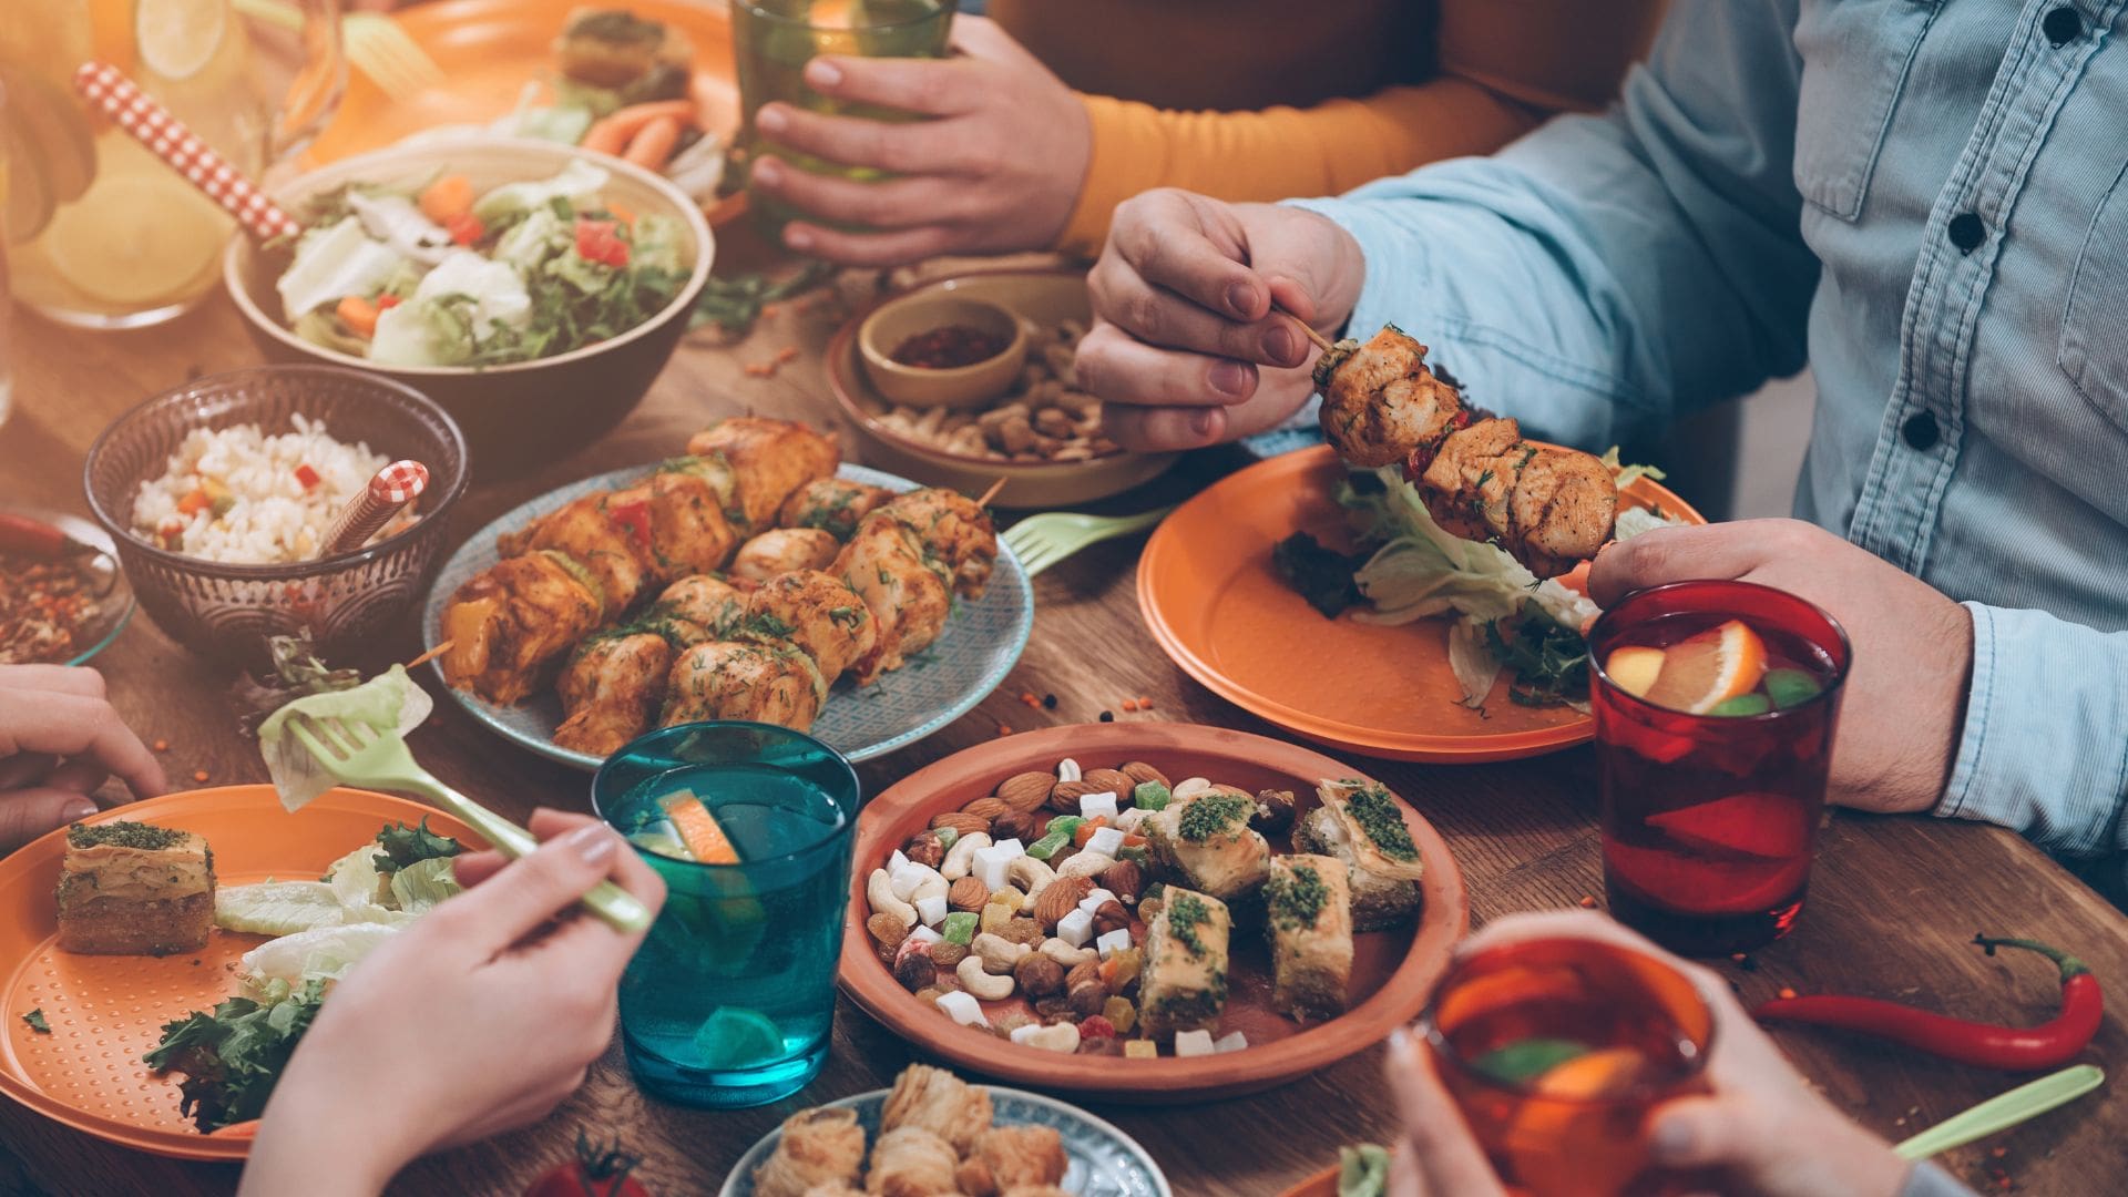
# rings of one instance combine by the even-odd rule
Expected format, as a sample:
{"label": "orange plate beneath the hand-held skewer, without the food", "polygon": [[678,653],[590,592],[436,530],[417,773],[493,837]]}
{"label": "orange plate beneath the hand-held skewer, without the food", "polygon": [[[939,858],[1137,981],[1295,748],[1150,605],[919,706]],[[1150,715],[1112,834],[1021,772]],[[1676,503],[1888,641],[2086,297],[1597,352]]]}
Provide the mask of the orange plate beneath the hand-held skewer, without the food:
{"label": "orange plate beneath the hand-held skewer, without the food", "polygon": [[[1285,537],[1343,543],[1332,498],[1343,475],[1328,445],[1283,454],[1219,479],[1153,530],[1138,609],[1175,665],[1296,735],[1392,760],[1513,760],[1590,739],[1590,718],[1573,707],[1509,701],[1504,675],[1483,711],[1464,707],[1447,620],[1326,620],[1279,579],[1270,547]],[[1707,522],[1645,477],[1622,498]]]}

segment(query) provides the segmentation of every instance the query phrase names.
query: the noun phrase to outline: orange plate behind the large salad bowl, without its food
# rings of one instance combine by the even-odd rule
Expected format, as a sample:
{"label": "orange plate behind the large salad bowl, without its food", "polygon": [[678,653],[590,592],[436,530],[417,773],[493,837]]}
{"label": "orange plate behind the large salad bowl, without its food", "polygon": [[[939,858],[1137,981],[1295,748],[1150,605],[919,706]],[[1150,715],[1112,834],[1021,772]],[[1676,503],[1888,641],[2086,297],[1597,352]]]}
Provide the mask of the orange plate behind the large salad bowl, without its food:
{"label": "orange plate behind the large salad bowl, without its food", "polygon": [[[392,19],[443,68],[443,83],[421,92],[389,96],[360,70],[347,72],[340,111],[304,153],[306,166],[323,166],[351,153],[383,149],[394,141],[445,124],[487,124],[517,106],[526,83],[541,83],[541,102],[553,98],[553,43],[562,23],[583,0],[445,0],[396,13]],[[738,83],[732,79],[732,21],[726,11],[677,0],[626,0],[617,4],[675,26],[694,43],[694,70],[719,81],[719,104],[728,119],[719,132],[738,128]]]}

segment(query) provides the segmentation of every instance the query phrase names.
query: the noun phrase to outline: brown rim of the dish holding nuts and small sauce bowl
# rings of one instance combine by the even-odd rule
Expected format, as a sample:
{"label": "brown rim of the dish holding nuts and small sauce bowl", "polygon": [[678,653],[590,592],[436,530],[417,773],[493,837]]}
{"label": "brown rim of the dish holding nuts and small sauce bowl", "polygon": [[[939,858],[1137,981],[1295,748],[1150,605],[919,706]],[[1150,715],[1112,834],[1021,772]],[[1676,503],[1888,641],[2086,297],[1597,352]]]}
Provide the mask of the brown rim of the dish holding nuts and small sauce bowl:
{"label": "brown rim of the dish holding nuts and small sauce bowl", "polygon": [[[1079,270],[987,270],[938,279],[907,298],[941,294],[996,302],[1036,326],[1066,319],[1090,324],[1092,302],[1085,275]],[[887,300],[894,302],[894,300]],[[864,371],[858,351],[858,328],[864,315],[851,319],[828,343],[828,390],[858,434],[864,460],[926,486],[949,486],[964,494],[981,494],[1004,479],[994,507],[1053,509],[1092,503],[1151,481],[1175,464],[1177,454],[1111,452],[1079,462],[1013,462],[958,454],[941,445],[896,432],[883,417],[894,400],[883,396]]]}

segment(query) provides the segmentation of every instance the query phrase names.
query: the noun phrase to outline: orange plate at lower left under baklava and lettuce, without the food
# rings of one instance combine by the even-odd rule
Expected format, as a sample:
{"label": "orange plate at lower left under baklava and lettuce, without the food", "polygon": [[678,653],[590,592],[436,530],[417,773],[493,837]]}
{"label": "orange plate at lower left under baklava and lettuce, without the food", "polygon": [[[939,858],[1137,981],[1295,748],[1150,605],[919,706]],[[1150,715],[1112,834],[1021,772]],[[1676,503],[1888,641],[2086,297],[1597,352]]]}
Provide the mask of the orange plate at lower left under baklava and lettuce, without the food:
{"label": "orange plate at lower left under baklava and lettuce, without the food", "polygon": [[[215,852],[215,878],[243,886],[268,878],[317,878],[387,822],[417,822],[468,848],[485,841],[455,818],[387,794],[332,790],[296,814],[272,786],[221,786],[166,794],[87,822],[138,820],[196,831]],[[179,1078],[155,1076],[140,1056],[162,1024],[211,1010],[236,993],[236,958],[264,935],[215,931],[189,956],[74,956],[57,948],[53,890],[66,833],[55,831],[0,860],[0,1093],[30,1110],[128,1148],[177,1159],[245,1159],[251,1135],[230,1127],[202,1135],[177,1112]],[[43,1010],[51,1033],[23,1014]]]}

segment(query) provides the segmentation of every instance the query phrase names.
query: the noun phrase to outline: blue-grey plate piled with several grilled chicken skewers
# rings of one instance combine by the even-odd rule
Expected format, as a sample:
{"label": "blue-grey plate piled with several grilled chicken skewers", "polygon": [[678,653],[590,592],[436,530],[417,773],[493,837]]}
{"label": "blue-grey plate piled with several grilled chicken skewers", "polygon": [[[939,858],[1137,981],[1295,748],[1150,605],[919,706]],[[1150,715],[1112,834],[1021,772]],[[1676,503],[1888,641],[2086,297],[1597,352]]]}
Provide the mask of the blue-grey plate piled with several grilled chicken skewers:
{"label": "blue-grey plate piled with several grilled chicken skewers", "polygon": [[579,769],[698,720],[868,760],[1019,660],[1034,592],[979,503],[841,464],[787,420],[724,420],[685,449],[547,492],[443,567],[423,628],[472,718]]}

